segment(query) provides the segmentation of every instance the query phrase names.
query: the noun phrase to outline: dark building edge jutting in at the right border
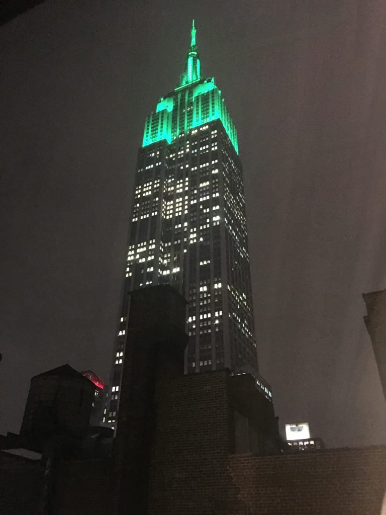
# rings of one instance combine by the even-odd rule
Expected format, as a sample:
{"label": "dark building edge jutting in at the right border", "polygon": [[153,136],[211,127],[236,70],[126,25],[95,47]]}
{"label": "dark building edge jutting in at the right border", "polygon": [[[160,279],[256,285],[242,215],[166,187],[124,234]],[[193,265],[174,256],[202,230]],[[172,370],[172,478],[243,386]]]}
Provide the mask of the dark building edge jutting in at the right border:
{"label": "dark building edge jutting in at the right border", "polygon": [[386,289],[362,294],[367,315],[363,317],[373,345],[375,361],[386,400]]}

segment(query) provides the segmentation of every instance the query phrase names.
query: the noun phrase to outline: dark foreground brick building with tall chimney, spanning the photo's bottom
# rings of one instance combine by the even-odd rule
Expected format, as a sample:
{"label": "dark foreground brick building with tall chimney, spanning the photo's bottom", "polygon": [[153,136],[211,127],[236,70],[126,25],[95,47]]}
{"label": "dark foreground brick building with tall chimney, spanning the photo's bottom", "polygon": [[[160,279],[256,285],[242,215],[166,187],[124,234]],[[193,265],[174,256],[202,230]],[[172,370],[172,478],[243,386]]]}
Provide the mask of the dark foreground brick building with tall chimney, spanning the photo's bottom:
{"label": "dark foreground brick building with tall chimney, spanning the photo's bottom", "polygon": [[273,405],[252,375],[183,374],[178,291],[139,289],[129,304],[112,457],[108,427],[89,428],[76,453],[54,441],[43,467],[28,453],[0,451],[2,513],[380,514],[386,447],[284,454]]}

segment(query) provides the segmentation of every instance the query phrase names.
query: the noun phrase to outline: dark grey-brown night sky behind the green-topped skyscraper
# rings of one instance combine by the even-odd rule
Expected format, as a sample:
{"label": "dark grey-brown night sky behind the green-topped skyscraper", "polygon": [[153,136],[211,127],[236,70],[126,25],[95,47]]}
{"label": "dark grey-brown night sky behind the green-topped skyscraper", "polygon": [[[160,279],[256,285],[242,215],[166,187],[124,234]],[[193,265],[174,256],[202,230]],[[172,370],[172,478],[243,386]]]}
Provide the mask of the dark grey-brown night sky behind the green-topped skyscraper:
{"label": "dark grey-brown night sky behind the green-topped skyscraper", "polygon": [[191,18],[238,128],[280,423],[386,443],[361,298],[386,287],[383,0],[46,0],[0,27],[0,433],[32,375],[108,379],[136,151]]}

